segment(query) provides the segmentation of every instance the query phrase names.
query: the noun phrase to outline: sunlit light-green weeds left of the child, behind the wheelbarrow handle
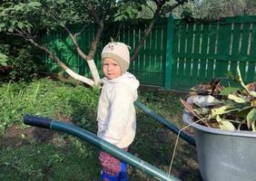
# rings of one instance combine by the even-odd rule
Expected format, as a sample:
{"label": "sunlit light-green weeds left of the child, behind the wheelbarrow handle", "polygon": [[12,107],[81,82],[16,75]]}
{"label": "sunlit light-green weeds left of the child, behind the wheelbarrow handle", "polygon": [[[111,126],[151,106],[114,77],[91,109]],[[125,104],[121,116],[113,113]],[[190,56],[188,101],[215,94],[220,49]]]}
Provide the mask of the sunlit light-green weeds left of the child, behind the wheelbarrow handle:
{"label": "sunlit light-green weeds left of the child, behind the wheelbarrow handle", "polygon": [[[73,118],[95,119],[98,90],[82,86],[65,86],[48,79],[32,83],[3,83],[0,86],[0,131],[20,123],[25,114],[58,119],[58,115]],[[60,118],[59,118],[60,119]]]}

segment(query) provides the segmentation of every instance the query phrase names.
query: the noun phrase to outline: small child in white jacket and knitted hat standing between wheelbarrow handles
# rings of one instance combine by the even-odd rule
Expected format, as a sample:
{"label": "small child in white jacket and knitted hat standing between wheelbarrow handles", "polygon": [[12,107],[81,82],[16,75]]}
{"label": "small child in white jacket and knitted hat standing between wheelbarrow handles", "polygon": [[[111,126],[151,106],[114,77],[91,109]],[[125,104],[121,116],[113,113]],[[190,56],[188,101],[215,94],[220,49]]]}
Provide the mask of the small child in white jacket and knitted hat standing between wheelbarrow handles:
{"label": "small child in white jacket and knitted hat standing between wheelbarrow handles", "polygon": [[[135,137],[136,118],[133,102],[137,99],[139,81],[127,70],[129,47],[124,43],[108,43],[102,52],[103,90],[98,103],[100,138],[127,151]],[[126,181],[126,164],[101,151],[102,181]]]}

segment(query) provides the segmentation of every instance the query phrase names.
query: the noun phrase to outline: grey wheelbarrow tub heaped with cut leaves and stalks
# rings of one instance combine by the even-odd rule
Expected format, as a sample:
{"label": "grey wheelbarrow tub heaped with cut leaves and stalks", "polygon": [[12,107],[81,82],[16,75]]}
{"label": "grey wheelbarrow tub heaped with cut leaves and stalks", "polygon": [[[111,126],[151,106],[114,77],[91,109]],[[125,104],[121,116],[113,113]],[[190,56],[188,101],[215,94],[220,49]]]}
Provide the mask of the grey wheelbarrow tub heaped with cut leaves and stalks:
{"label": "grey wheelbarrow tub heaped with cut leaves and stalks", "polygon": [[216,79],[191,89],[182,120],[194,130],[202,179],[255,180],[256,82],[247,85],[237,68],[238,86]]}

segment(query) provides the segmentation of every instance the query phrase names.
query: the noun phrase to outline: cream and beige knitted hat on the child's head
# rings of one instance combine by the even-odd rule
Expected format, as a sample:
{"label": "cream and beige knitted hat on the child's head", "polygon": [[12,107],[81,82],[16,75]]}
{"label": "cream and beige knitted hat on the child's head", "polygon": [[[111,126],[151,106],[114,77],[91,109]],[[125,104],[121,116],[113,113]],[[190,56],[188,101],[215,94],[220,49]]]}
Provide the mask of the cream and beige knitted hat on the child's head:
{"label": "cream and beige knitted hat on the child's head", "polygon": [[124,43],[107,43],[103,48],[102,60],[105,57],[112,58],[118,62],[121,67],[122,73],[128,70],[130,65],[130,46]]}

